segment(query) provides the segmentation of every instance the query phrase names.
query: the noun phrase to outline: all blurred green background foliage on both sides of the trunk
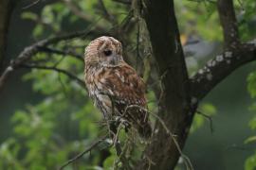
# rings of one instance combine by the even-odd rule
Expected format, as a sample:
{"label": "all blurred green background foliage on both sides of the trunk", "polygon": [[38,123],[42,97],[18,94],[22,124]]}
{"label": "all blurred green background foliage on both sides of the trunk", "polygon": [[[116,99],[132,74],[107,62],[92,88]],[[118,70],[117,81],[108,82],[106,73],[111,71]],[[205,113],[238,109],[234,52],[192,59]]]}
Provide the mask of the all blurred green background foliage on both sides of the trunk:
{"label": "all blurred green background foliage on both sides of the trunk", "polygon": [[[253,8],[255,8],[255,3],[254,5],[249,3],[252,1],[244,3],[243,6],[248,9],[241,14],[239,19],[240,29],[245,32],[242,34],[245,40],[252,35],[252,31],[243,22],[252,19]],[[104,27],[105,30],[110,31],[113,27],[123,24],[129,13],[129,9],[124,5],[103,1],[105,7],[111,9],[109,12],[114,16],[113,20],[104,13],[98,0],[75,0],[72,1],[72,4],[68,2],[46,5],[40,14],[29,10],[23,12],[21,16],[23,19],[35,23],[32,32],[34,39],[44,39],[74,29],[87,27],[94,29],[96,24],[98,27]],[[198,36],[211,42],[222,39],[221,26],[216,24],[218,16],[214,3],[210,1],[175,1],[175,5],[178,24],[182,35],[186,38]],[[241,6],[237,3],[236,6],[237,11],[240,11]],[[133,34],[128,35],[130,37],[127,38],[132,44],[125,46],[129,54],[137,52],[135,47],[137,46],[135,41],[137,32],[133,31]],[[82,56],[83,48],[89,41],[90,38],[82,37],[68,42],[60,42],[51,47]],[[145,52],[141,50],[138,55],[127,54],[127,56],[138,57],[139,53],[144,54]],[[33,58],[31,64],[62,68],[83,79],[83,61],[72,55],[42,52]],[[99,110],[95,109],[84,88],[74,79],[52,70],[38,69],[32,69],[23,79],[32,83],[33,91],[42,96],[42,101],[34,106],[30,106],[28,102],[27,110],[17,110],[12,116],[12,137],[0,145],[0,169],[56,169],[106,133],[106,127],[102,126],[100,122]],[[248,76],[248,91],[252,97],[256,96],[256,73]],[[149,88],[147,96],[149,110],[155,112],[157,99],[152,89]],[[201,105],[199,110],[209,116],[216,112],[210,103]],[[191,132],[202,127],[206,120],[202,114],[196,114]],[[250,127],[255,129],[256,118],[251,120]],[[136,160],[139,158],[144,144],[140,143],[135,134],[130,135],[131,140],[127,141],[122,130],[120,140],[123,146],[127,143],[134,144],[133,147],[127,148],[125,158],[133,156]],[[255,136],[247,140],[247,143],[253,142],[255,142]],[[114,166],[120,166],[114,147],[109,148],[108,144],[109,142],[105,141],[90,154],[85,154],[81,161],[76,161],[66,169],[113,169]],[[135,147],[137,149],[134,149]],[[256,151],[255,155],[247,159],[245,165],[247,170],[256,167],[255,160]],[[133,164],[133,162],[129,163]]]}

